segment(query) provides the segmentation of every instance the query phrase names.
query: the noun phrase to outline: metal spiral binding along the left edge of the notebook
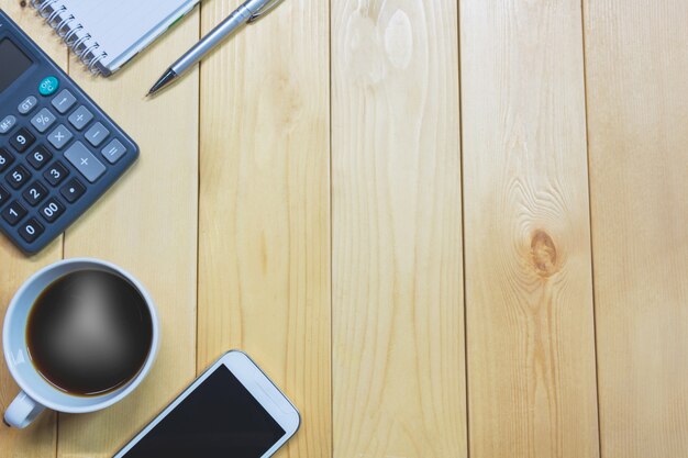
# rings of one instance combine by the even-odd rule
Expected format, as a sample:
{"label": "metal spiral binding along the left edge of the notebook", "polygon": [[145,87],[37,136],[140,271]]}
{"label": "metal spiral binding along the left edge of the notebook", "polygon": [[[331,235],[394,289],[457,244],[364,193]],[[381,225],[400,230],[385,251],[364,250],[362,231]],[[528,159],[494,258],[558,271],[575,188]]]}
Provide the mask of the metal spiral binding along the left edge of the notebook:
{"label": "metal spiral binding along the left edge of the notebook", "polygon": [[99,51],[101,47],[98,42],[77,22],[74,14],[69,14],[59,0],[30,0],[30,3],[84,65],[91,72],[100,74],[97,64],[108,57],[108,53]]}

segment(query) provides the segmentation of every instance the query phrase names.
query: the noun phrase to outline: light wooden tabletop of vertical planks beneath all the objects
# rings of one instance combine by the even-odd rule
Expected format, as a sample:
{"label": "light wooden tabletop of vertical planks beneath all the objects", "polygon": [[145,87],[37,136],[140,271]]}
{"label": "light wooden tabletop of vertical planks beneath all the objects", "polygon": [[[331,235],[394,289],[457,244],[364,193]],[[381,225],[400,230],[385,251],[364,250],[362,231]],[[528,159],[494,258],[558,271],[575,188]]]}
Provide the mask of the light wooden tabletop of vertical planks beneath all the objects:
{"label": "light wooden tabletop of vertical planks beneath all the objects", "polygon": [[229,348],[303,414],[280,457],[688,456],[688,2],[288,0],[144,100],[236,4],[104,80],[0,0],[142,148],[40,256],[1,243],[1,306],[93,256],[163,325],[134,395],[0,456],[110,457]]}

